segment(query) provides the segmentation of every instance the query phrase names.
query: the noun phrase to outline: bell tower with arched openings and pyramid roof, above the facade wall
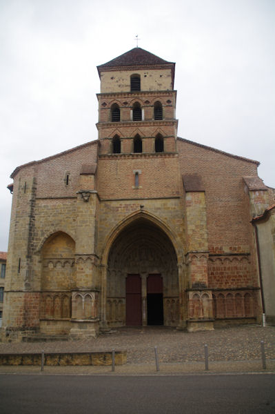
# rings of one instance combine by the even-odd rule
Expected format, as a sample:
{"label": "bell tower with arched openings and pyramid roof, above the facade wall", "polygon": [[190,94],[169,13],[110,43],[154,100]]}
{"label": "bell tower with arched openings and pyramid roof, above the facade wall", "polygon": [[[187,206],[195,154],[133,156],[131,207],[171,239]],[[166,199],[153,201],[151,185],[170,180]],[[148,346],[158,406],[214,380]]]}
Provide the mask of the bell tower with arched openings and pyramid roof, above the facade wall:
{"label": "bell tower with arched openings and pyramid roof, above the facade wall", "polygon": [[138,47],[97,67],[100,155],[176,152],[174,68]]}

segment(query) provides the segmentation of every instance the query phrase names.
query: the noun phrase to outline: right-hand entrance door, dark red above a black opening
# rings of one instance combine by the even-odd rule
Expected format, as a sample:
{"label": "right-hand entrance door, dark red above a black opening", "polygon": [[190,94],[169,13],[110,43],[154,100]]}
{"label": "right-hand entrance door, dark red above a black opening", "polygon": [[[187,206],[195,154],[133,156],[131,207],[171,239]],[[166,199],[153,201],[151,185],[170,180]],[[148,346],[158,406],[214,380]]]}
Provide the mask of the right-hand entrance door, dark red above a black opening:
{"label": "right-hand entrance door, dark red above a black opening", "polygon": [[147,324],[163,325],[163,278],[147,277]]}

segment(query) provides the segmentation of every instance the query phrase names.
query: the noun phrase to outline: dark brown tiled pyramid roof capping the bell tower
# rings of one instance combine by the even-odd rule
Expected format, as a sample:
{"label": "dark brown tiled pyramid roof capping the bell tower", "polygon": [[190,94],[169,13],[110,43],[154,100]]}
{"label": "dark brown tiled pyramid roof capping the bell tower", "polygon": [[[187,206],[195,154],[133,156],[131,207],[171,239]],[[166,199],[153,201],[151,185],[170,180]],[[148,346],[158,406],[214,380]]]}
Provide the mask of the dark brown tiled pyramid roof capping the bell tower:
{"label": "dark brown tiled pyramid roof capping the bell tower", "polygon": [[111,61],[103,63],[102,65],[97,66],[97,69],[101,70],[101,68],[111,68],[114,66],[136,66],[136,65],[167,65],[172,64],[173,62],[165,61],[156,55],[153,55],[147,50],[142,48],[134,48],[132,50],[128,50],[128,52],[123,53],[119,57],[115,57]]}

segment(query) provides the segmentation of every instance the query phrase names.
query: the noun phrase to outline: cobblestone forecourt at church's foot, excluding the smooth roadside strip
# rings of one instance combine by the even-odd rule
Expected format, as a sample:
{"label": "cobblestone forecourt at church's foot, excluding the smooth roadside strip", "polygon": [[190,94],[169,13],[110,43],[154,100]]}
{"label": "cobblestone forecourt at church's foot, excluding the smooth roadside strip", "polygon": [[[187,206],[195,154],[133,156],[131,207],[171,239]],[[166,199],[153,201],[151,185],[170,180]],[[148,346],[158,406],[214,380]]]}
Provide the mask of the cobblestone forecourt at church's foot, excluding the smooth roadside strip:
{"label": "cobblestone forecourt at church's foot, excluding the smooth roadside strip", "polygon": [[127,351],[128,364],[154,362],[154,346],[163,363],[203,362],[204,344],[210,361],[249,361],[261,358],[261,341],[267,359],[275,359],[275,326],[256,325],[216,328],[187,333],[163,326],[116,328],[96,339],[79,341],[0,343],[0,353]]}

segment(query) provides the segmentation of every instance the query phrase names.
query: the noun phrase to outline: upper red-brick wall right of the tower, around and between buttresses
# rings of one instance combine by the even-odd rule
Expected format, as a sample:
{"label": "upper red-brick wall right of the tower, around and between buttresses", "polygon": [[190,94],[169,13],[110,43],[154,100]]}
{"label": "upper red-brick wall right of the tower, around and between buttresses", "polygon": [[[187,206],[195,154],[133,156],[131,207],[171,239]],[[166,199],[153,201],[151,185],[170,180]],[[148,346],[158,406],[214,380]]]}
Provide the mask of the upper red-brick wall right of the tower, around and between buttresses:
{"label": "upper red-brick wall right of the tower, around and between buttresses", "polygon": [[247,253],[253,233],[242,177],[257,175],[256,164],[188,141],[178,140],[177,148],[181,174],[198,173],[203,179],[210,253]]}

